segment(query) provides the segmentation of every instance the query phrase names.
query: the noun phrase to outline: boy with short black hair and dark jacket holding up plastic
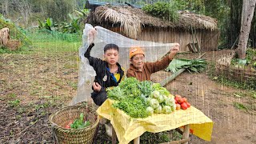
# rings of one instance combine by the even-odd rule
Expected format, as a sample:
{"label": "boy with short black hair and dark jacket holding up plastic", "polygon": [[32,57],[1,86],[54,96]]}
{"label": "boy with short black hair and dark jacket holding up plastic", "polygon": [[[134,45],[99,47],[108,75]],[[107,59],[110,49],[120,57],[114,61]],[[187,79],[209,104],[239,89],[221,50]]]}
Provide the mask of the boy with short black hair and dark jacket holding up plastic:
{"label": "boy with short black hair and dark jacket holding up plastic", "polygon": [[104,60],[90,56],[90,50],[94,47],[93,35],[95,30],[89,32],[90,46],[86,50],[84,56],[88,58],[90,66],[94,67],[96,76],[93,83],[94,92],[91,93],[94,103],[101,106],[106,101],[106,88],[110,86],[118,86],[124,76],[124,70],[118,63],[118,46],[115,44],[107,44],[104,47]]}

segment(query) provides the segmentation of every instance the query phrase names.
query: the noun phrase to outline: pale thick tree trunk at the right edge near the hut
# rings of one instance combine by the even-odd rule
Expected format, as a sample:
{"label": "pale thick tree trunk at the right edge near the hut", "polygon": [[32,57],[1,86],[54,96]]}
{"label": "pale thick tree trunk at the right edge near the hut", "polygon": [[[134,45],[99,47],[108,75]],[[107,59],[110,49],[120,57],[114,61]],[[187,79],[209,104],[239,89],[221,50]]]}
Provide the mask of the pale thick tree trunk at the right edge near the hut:
{"label": "pale thick tree trunk at the right edge near the hut", "polygon": [[247,42],[250,34],[251,21],[254,17],[256,0],[243,0],[242,2],[242,21],[238,41],[238,58],[246,58]]}

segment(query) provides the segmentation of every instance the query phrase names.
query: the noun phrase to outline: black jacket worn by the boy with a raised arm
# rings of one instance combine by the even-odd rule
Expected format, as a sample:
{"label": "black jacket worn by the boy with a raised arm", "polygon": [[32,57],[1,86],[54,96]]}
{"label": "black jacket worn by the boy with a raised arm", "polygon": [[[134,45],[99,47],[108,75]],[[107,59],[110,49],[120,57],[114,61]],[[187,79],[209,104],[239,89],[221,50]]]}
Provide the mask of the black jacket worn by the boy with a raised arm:
{"label": "black jacket worn by the boy with a raised arm", "polygon": [[[117,63],[118,74],[120,74],[120,79],[118,82],[114,82],[114,79],[110,76],[110,71],[107,70],[108,63],[100,58],[94,58],[90,56],[90,50],[93,47],[94,43],[90,44],[84,56],[88,58],[90,66],[93,66],[94,70],[96,71],[94,82],[98,82],[98,84],[102,86],[101,92],[106,91],[107,87],[118,86],[118,83],[122,80],[122,77],[124,75],[122,67],[119,65],[119,63]],[[94,92],[97,93],[96,91]]]}

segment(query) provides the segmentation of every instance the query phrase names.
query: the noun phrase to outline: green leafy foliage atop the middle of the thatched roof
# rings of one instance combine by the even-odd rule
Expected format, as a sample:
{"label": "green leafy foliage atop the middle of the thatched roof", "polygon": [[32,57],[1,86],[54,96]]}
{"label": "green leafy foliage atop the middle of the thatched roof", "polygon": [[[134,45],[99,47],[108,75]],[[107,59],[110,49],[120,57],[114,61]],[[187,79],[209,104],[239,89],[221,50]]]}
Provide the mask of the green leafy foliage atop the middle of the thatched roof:
{"label": "green leafy foliage atop the middle of the thatched roof", "polygon": [[162,18],[167,21],[175,22],[178,20],[178,8],[176,2],[155,2],[152,5],[142,7],[147,14]]}

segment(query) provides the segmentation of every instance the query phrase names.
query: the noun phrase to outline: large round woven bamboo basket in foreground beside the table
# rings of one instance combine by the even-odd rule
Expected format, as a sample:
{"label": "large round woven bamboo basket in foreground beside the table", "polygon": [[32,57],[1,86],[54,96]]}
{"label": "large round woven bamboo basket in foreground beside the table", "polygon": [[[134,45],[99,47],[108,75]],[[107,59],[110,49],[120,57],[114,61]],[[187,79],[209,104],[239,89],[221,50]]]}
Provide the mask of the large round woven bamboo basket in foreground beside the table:
{"label": "large round woven bamboo basket in foreground beside the table", "polygon": [[[83,113],[90,126],[82,129],[64,128],[70,121],[79,118]],[[92,143],[96,134],[99,116],[89,106],[66,106],[50,115],[54,142],[56,143]]]}

